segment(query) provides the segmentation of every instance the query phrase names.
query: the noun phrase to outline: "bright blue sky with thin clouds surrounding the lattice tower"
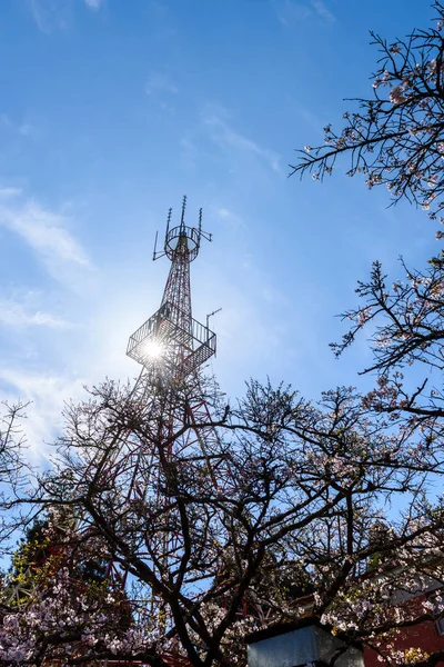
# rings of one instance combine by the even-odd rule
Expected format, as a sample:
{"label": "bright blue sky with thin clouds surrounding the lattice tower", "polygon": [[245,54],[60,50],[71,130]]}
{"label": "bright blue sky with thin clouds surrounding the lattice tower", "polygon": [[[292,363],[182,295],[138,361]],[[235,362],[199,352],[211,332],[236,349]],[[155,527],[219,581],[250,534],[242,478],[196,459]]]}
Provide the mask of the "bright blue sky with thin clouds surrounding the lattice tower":
{"label": "bright blue sky with thin clouds surrounding the lattice tower", "polygon": [[192,265],[194,317],[222,308],[222,389],[285,380],[311,398],[364,386],[365,341],[327,344],[380,259],[421,267],[433,225],[337,170],[287,178],[294,149],[371,93],[389,39],[426,0],[2,0],[0,389],[31,399],[31,450],[83,385],[132,378],[127,340],[159,307],[155,230],[189,196],[213,243]]}

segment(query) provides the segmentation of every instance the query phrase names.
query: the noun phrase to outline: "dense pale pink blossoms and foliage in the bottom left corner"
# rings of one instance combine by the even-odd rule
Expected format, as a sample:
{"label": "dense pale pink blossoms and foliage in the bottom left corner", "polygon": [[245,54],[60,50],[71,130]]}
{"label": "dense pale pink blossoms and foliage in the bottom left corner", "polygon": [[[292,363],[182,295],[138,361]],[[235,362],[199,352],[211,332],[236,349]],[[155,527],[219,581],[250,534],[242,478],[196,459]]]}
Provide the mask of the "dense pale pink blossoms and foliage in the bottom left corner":
{"label": "dense pale pink blossoms and foliage in the bottom left corner", "polygon": [[84,540],[65,508],[32,526],[4,586],[0,665],[75,663],[90,646],[100,655],[104,646],[141,643],[125,596],[103,576],[101,556],[108,556],[101,540]]}

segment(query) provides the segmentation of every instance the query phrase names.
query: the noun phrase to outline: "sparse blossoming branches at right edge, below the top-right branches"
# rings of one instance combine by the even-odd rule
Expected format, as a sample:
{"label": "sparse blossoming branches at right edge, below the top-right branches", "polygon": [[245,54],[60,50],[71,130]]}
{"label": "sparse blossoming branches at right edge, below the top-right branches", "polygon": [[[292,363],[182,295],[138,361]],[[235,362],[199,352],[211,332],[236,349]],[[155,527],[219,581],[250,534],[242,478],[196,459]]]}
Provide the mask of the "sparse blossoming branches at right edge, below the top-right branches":
{"label": "sparse blossoming branches at right edge, below the top-right branches", "polygon": [[433,449],[444,437],[444,263],[434,258],[423,271],[401,263],[405,279],[391,283],[374,262],[370,280],[357,286],[361,302],[343,313],[352,325],[332,348],[340,356],[372,327],[373,362],[362,372],[376,374],[376,385],[363,407]]}

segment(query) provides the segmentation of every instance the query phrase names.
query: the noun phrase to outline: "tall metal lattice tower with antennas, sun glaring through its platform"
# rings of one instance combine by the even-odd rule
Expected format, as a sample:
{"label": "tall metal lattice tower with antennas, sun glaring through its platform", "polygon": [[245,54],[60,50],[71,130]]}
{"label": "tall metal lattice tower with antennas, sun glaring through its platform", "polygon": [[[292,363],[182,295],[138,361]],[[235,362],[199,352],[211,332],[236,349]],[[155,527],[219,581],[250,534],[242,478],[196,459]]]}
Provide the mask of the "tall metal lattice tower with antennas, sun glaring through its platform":
{"label": "tall metal lattice tower with antennas, sun glaring through its platform", "polygon": [[[216,351],[216,337],[208,327],[208,318],[205,326],[192,317],[190,286],[190,265],[199,255],[202,239],[211,241],[211,235],[202,230],[202,209],[195,227],[185,225],[185,207],[184,197],[176,226],[172,225],[172,209],[169,210],[161,250],[158,250],[158,237],[155,239],[153,259],[168,257],[171,261],[160,308],[130,336],[127,348],[127,355],[142,367],[131,391],[131,402],[151,425],[152,437],[145,441],[129,431],[120,451],[115,450],[128,470],[127,475],[117,474],[115,491],[125,496],[128,505],[153,502],[160,512],[168,504],[168,481],[161,479],[164,462],[162,466],[160,459],[163,457],[186,459],[190,476],[200,477],[203,472],[209,484],[218,486],[209,456],[218,434],[211,426],[201,428],[202,424],[211,422],[211,411],[199,376],[200,367]],[[186,388],[185,400],[183,388]],[[180,437],[176,437],[178,431],[183,431]],[[160,444],[159,447],[153,447],[153,442]],[[109,470],[113,465],[111,458]],[[147,480],[157,475],[159,479],[148,485],[148,489]],[[170,526],[151,538],[145,558],[167,571],[174,569],[183,548],[180,530]],[[121,567],[111,563],[109,574],[122,587],[127,585],[128,573]],[[168,629],[168,613],[159,596],[151,593],[150,599],[141,600],[140,610],[142,615],[161,617],[160,623]]]}

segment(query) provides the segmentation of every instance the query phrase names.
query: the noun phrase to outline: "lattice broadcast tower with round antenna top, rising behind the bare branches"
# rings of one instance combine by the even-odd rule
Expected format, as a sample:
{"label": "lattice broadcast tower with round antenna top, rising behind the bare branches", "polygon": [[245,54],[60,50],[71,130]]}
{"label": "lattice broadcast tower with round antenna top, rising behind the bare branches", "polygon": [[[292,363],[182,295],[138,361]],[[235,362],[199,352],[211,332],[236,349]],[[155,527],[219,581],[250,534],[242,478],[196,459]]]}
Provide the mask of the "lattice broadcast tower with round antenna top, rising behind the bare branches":
{"label": "lattice broadcast tower with round antenna top, rising behind the bare branches", "polygon": [[[218,435],[211,427],[196,428],[196,425],[211,421],[198,370],[215,354],[216,337],[208,326],[192,317],[190,285],[190,265],[199,255],[202,239],[211,241],[211,235],[202,230],[202,209],[196,227],[185,225],[185,207],[186,197],[182,201],[178,226],[172,226],[172,209],[169,210],[161,250],[157,247],[158,236],[155,239],[153,260],[167,256],[171,267],[159,310],[130,336],[128,342],[127,355],[142,366],[131,397],[154,425],[154,439],[167,444],[165,456],[172,459],[192,449],[198,467],[202,469],[203,464],[205,474],[216,484],[208,452]],[[178,401],[178,387],[183,386],[191,390],[185,400],[182,397]],[[184,425],[189,428],[176,438],[175,432]],[[141,472],[147,464],[155,470],[158,456],[159,451],[152,450],[151,444],[145,448],[137,439],[137,460],[129,494],[139,494],[145,499],[145,489],[140,487],[138,476],[143,477]],[[161,484],[158,489],[162,489]],[[163,494],[158,490],[159,506],[165,500]],[[168,564],[181,547],[174,531],[161,536],[157,547],[159,561]]]}

